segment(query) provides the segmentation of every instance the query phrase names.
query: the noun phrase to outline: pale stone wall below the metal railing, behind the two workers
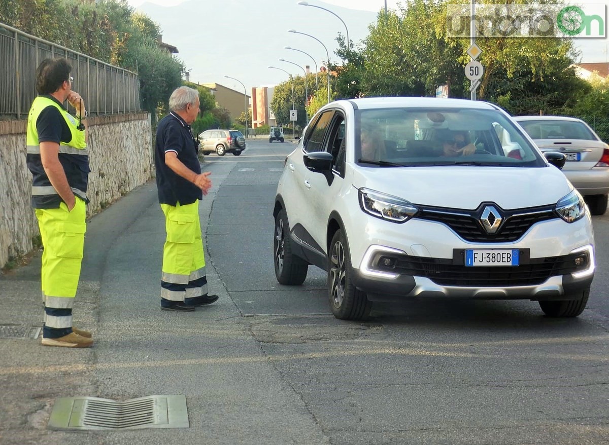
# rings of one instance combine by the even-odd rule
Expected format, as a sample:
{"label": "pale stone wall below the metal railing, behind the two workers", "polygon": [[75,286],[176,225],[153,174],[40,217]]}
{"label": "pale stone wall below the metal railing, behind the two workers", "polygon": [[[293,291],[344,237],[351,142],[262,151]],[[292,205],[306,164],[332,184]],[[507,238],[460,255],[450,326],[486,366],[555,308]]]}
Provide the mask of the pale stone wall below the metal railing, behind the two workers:
{"label": "pale stone wall below the metal railing, behind the two workers", "polygon": [[[26,165],[24,120],[0,121],[0,267],[32,250],[38,224],[30,207],[32,174]],[[144,184],[154,166],[147,113],[89,118],[87,216]]]}

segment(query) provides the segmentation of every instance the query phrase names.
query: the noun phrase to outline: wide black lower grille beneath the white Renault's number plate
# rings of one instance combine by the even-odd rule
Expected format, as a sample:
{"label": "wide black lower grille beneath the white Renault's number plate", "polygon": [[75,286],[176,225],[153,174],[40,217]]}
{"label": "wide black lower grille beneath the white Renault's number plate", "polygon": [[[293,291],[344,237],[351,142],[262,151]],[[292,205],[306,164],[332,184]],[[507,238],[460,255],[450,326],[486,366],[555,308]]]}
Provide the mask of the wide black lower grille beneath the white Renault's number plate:
{"label": "wide black lower grille beneath the white Renault's number plate", "polygon": [[[575,266],[575,258],[582,254],[529,260],[520,266],[474,266],[454,264],[440,258],[400,255],[395,267],[375,269],[398,274],[426,277],[440,286],[509,287],[540,285],[549,277],[571,274],[581,270]],[[586,266],[587,267],[587,266]]]}

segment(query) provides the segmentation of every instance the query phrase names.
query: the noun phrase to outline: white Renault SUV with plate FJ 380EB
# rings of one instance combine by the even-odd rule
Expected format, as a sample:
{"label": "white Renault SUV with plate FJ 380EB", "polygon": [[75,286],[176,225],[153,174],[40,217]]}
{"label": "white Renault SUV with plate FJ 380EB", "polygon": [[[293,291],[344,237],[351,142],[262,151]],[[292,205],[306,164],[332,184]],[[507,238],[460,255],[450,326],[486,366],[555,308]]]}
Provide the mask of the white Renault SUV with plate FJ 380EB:
{"label": "white Renault SUV with plate FJ 380EB", "polygon": [[537,300],[548,316],[576,317],[594,237],[564,164],[490,103],[329,103],[277,187],[276,278],[300,285],[310,264],[325,269],[340,319],[412,297]]}

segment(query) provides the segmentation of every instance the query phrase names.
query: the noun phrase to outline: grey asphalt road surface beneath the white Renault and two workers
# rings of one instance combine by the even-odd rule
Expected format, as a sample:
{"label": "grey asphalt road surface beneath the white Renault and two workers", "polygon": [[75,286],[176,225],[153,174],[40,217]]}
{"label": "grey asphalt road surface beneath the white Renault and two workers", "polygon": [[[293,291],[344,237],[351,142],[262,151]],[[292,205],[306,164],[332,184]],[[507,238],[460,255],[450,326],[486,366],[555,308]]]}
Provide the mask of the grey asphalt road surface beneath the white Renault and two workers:
{"label": "grey asphalt road surface beneath the white Renault and two workers", "polygon": [[[609,215],[594,217],[597,273],[572,320],[535,302],[376,305],[334,319],[325,273],[281,286],[272,205],[292,143],[206,156],[201,205],[214,305],[159,309],[164,221],[153,183],[88,226],[77,325],[91,350],[0,339],[0,443],[609,443]],[[0,323],[40,325],[40,259],[0,278]],[[55,398],[184,394],[188,429],[52,432]]]}

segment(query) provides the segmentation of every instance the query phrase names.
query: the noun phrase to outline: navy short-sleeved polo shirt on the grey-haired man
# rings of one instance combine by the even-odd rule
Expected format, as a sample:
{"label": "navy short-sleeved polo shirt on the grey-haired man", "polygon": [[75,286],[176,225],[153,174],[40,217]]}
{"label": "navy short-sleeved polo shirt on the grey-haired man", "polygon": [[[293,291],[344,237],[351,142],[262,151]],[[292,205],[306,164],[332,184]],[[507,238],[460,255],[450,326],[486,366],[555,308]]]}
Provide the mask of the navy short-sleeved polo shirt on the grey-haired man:
{"label": "navy short-sleeved polo shirt on the grey-haired man", "polygon": [[178,176],[165,164],[165,153],[175,151],[178,159],[197,174],[201,164],[197,157],[197,147],[191,127],[180,116],[171,112],[160,120],[155,143],[155,164],[157,170],[158,201],[161,204],[192,204],[203,199],[203,192],[190,181]]}

